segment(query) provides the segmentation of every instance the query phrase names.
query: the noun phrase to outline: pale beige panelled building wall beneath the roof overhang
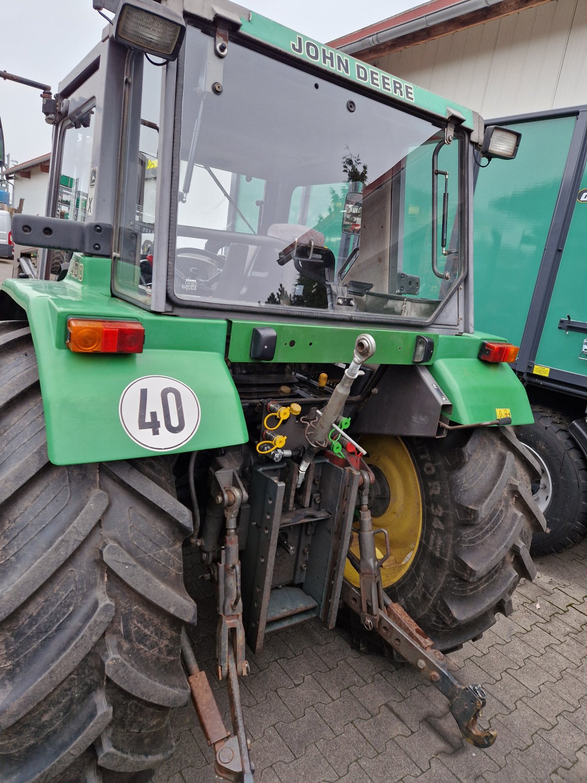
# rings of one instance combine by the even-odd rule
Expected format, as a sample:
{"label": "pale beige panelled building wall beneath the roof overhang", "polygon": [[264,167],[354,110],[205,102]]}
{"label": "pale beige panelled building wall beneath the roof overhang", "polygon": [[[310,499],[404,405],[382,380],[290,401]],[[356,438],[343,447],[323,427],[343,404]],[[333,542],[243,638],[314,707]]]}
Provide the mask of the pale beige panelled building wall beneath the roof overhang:
{"label": "pale beige panelled building wall beneath the roof overhang", "polygon": [[587,103],[587,0],[553,0],[373,64],[483,117]]}

